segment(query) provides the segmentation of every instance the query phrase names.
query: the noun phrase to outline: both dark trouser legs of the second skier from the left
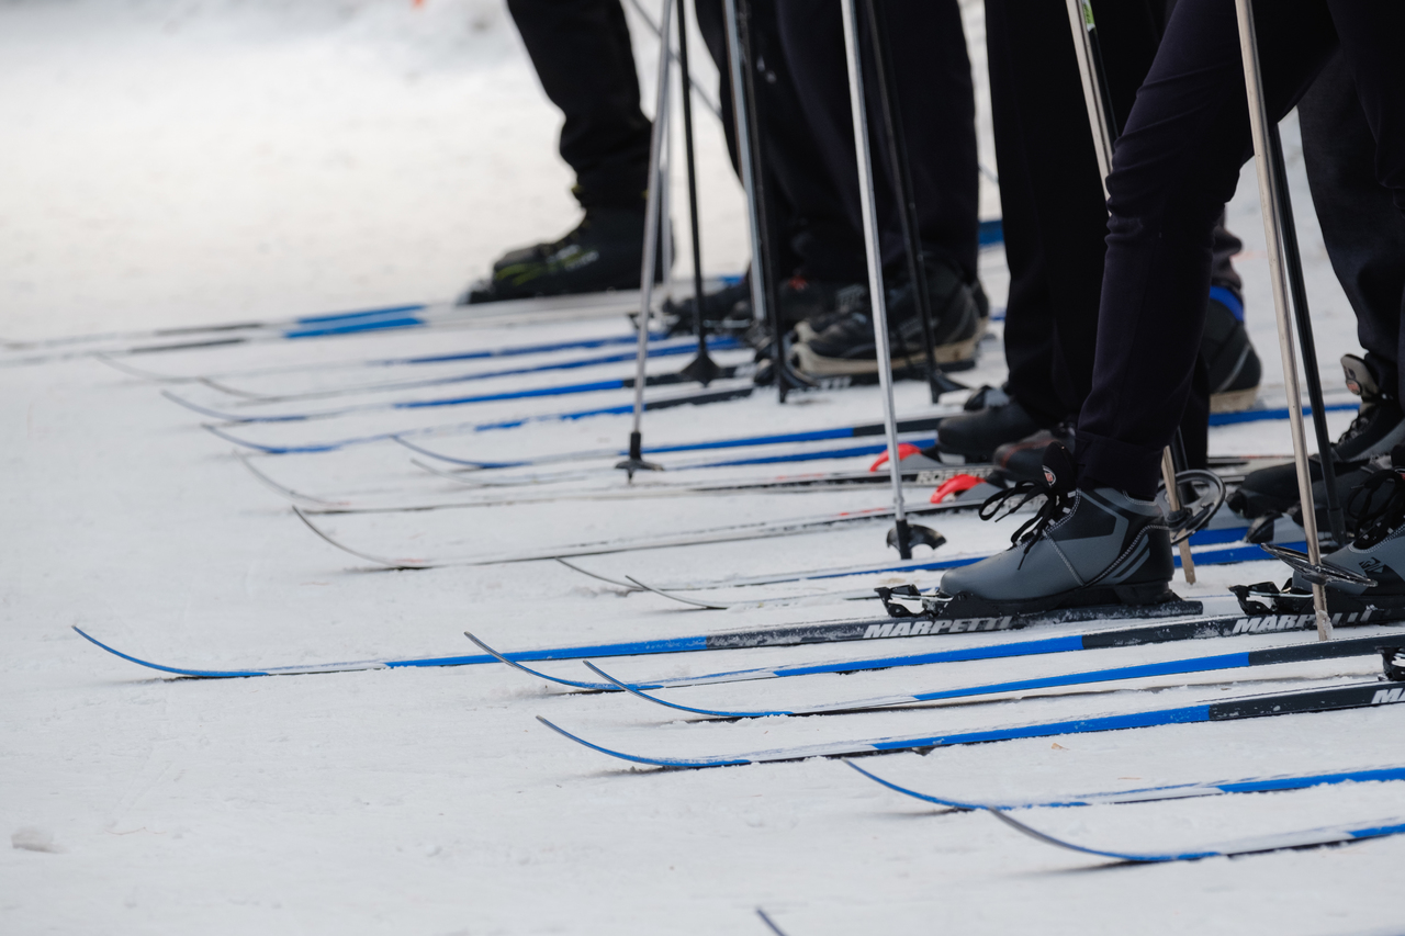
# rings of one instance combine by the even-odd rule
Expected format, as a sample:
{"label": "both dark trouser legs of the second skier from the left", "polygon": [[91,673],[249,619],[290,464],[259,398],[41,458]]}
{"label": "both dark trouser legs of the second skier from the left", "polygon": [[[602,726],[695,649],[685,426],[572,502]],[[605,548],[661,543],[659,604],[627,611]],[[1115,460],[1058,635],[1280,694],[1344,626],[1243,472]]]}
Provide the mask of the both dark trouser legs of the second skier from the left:
{"label": "both dark trouser legs of the second skier from the left", "polygon": [[[951,257],[975,278],[978,177],[975,98],[960,10],[954,0],[885,0],[912,163],[923,249]],[[863,219],[843,24],[836,0],[750,0],[756,94],[767,188],[769,235],[780,278],[863,282]],[[718,70],[731,126],[731,74],[721,0],[698,0],[698,27]],[[867,41],[867,34],[865,34]],[[867,44],[867,104],[874,142],[885,264],[905,249],[882,146],[875,74]]]}

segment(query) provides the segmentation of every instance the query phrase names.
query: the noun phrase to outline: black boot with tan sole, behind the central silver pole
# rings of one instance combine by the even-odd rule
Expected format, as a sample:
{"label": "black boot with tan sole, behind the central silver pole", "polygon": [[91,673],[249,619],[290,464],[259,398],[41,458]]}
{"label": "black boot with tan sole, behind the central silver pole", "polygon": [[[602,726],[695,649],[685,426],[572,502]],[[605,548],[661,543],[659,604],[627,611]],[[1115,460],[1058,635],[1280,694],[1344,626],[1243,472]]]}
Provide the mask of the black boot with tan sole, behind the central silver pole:
{"label": "black boot with tan sole, behind the central silver pole", "polygon": [[[972,360],[981,340],[981,316],[971,288],[961,281],[955,267],[940,260],[927,264],[927,288],[936,318],[936,363]],[[892,290],[888,297],[888,337],[894,372],[920,371],[926,365],[922,318],[910,284]],[[877,374],[877,343],[868,302],[843,315],[836,312],[823,330],[797,343],[792,367],[805,377],[816,378]]]}

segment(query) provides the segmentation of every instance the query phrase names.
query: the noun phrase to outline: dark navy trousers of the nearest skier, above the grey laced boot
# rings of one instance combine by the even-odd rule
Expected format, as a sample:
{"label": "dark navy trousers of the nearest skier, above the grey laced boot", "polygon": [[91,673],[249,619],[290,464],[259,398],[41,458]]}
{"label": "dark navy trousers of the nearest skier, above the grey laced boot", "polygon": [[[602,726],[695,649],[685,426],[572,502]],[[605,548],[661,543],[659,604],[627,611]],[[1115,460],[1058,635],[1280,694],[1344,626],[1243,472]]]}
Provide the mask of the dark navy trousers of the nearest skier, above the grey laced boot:
{"label": "dark navy trousers of the nearest skier, above the grey laced boot", "polygon": [[[1257,6],[1269,112],[1286,114],[1338,46],[1377,142],[1377,180],[1405,208],[1405,4]],[[1148,496],[1190,396],[1211,230],[1252,155],[1232,0],[1180,0],[1137,94],[1109,178],[1107,264],[1079,483]]]}

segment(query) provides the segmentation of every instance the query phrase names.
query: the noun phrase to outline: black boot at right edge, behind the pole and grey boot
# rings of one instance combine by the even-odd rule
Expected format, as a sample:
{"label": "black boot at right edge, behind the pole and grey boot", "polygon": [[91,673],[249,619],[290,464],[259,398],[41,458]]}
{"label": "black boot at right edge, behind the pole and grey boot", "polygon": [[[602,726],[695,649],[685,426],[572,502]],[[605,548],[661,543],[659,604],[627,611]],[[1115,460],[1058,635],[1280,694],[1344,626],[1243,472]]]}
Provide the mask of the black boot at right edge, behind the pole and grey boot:
{"label": "black boot at right edge, behind the pole and grey boot", "polygon": [[[1346,385],[1361,398],[1361,412],[1332,446],[1338,490],[1342,503],[1350,486],[1370,468],[1370,461],[1385,455],[1405,441],[1405,412],[1394,395],[1381,388],[1371,367],[1354,354],[1342,356]],[[1392,388],[1394,389],[1394,388]],[[1314,502],[1319,513],[1326,507],[1326,486],[1322,483],[1322,462],[1318,455],[1309,461],[1314,482]],[[1354,476],[1353,476],[1354,475]],[[1245,478],[1239,490],[1229,495],[1229,507],[1242,517],[1262,517],[1286,513],[1298,502],[1298,475],[1293,462],[1262,468]]]}

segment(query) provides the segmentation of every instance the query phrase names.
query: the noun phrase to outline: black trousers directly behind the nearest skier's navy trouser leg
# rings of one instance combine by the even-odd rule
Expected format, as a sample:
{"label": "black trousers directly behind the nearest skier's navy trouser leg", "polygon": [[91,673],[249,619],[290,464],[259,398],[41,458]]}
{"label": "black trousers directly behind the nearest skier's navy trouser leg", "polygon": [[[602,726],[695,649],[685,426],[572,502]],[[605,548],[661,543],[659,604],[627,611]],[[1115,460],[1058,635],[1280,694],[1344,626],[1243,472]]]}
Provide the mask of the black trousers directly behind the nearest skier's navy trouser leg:
{"label": "black trousers directly behind the nearest skier's navy trouser leg", "polygon": [[[986,0],[986,52],[1010,290],[1006,389],[1037,422],[1072,422],[1093,385],[1107,208],[1078,60],[1059,3]],[[1125,122],[1165,30],[1159,0],[1094,3],[1111,104]],[[1241,288],[1236,238],[1215,228],[1214,282]],[[1182,420],[1190,462],[1207,444],[1208,386]]]}

